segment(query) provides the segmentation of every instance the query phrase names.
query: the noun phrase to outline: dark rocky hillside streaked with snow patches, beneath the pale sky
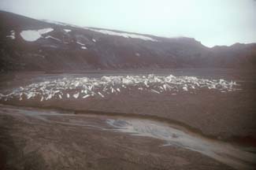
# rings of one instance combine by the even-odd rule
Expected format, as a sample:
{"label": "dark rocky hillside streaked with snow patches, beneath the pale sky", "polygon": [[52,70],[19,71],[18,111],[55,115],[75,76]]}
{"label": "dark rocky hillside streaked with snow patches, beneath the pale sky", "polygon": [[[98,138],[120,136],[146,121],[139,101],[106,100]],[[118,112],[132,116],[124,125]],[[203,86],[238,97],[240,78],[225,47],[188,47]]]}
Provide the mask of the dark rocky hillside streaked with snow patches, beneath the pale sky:
{"label": "dark rocky hillside streaked with snow patches, beneath the pale sky", "polygon": [[0,11],[2,71],[254,68],[256,43],[208,48],[191,38],[81,28]]}

